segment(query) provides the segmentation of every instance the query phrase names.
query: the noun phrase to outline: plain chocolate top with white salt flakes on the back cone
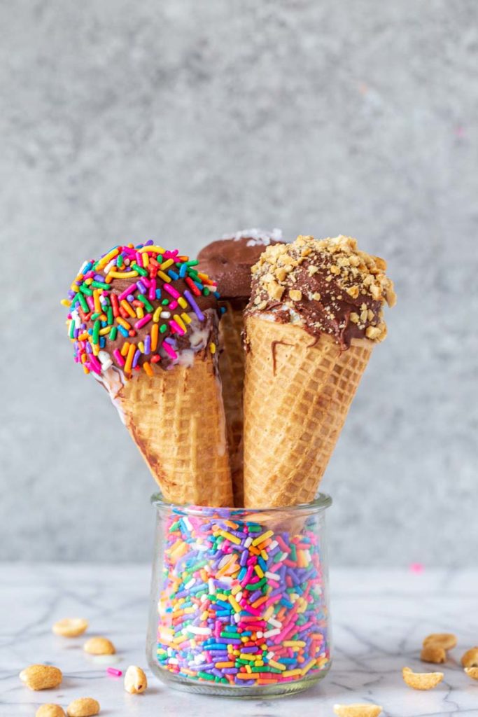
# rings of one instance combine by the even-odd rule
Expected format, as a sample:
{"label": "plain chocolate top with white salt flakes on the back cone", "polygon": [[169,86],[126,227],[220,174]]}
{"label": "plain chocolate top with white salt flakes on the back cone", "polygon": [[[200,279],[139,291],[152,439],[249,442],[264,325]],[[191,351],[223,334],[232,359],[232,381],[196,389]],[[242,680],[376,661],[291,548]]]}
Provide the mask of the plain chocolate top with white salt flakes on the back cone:
{"label": "plain chocolate top with white salt flakes on the back cone", "polygon": [[249,300],[252,265],[267,246],[280,243],[282,235],[277,229],[270,234],[257,229],[238,232],[201,249],[199,269],[217,282],[221,299]]}

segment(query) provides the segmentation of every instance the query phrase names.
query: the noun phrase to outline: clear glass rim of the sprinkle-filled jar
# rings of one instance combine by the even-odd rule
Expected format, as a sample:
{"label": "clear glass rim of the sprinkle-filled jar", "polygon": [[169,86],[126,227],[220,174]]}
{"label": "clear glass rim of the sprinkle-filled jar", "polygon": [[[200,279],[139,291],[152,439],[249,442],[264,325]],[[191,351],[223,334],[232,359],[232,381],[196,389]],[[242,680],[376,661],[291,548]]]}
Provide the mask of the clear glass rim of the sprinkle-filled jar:
{"label": "clear glass rim of the sprinkle-filled jar", "polygon": [[[205,516],[211,513],[222,512],[229,516],[244,516],[254,513],[265,515],[270,513],[320,513],[332,505],[332,498],[328,493],[318,493],[310,503],[298,503],[297,505],[283,505],[280,507],[271,506],[267,508],[215,508],[211,505],[191,505],[189,503],[172,503],[165,500],[162,493],[153,493],[150,502],[158,511],[171,511],[184,516]],[[206,512],[207,511],[207,512]]]}

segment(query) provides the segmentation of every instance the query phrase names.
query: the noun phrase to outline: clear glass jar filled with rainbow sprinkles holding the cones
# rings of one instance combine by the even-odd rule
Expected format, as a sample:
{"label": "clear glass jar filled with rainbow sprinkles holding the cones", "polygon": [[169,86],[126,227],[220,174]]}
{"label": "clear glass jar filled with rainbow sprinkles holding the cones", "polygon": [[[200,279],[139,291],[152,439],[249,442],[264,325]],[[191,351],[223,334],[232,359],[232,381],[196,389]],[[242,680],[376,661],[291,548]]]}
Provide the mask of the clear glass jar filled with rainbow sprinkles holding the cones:
{"label": "clear glass jar filled with rainbow sprinkles holding the cones", "polygon": [[147,655],[173,688],[264,697],[330,668],[325,509],[156,506]]}

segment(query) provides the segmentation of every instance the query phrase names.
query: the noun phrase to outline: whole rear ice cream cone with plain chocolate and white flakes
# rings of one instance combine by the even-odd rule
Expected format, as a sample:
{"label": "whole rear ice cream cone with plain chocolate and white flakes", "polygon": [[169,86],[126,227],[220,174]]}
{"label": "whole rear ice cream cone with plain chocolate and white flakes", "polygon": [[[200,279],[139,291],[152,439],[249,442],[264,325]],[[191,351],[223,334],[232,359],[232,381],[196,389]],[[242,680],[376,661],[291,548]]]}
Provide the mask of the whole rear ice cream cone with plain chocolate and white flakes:
{"label": "whole rear ice cream cone with plain chocolate and white flakes", "polygon": [[226,412],[234,505],[244,505],[242,475],[242,391],[244,386],[243,312],[251,295],[251,267],[264,249],[282,242],[279,229],[244,229],[211,242],[198,255],[199,266],[216,283],[226,309],[219,325],[219,371]]}

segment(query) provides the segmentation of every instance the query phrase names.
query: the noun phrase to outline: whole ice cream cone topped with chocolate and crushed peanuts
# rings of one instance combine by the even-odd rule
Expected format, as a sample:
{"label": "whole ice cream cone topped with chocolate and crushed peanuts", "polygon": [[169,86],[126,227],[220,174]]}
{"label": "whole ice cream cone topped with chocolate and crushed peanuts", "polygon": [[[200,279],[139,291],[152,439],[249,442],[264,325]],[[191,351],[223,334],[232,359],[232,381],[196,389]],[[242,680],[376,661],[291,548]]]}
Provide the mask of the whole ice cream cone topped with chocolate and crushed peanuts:
{"label": "whole ice cream cone topped with chocolate and crushed peanuts", "polygon": [[355,239],[297,237],[252,269],[245,312],[244,505],[306,503],[393,305],[385,262]]}

